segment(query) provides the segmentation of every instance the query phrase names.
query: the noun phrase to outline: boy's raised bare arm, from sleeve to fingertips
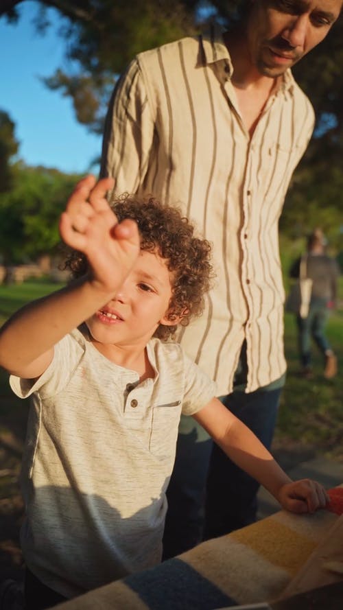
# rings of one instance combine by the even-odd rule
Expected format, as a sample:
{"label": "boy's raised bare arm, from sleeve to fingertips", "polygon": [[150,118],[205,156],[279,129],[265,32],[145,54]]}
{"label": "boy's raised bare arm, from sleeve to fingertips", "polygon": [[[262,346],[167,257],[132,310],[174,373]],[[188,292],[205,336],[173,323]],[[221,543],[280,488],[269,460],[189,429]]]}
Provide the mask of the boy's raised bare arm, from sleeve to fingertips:
{"label": "boy's raised bare arm, from sleeve to fingertips", "polygon": [[132,220],[120,224],[106,200],[113,179],[95,183],[86,176],[71,194],[60,218],[64,242],[88,259],[85,277],[29,303],[0,329],[0,366],[31,379],[49,366],[54,345],[108,303],[139,255],[139,232]]}

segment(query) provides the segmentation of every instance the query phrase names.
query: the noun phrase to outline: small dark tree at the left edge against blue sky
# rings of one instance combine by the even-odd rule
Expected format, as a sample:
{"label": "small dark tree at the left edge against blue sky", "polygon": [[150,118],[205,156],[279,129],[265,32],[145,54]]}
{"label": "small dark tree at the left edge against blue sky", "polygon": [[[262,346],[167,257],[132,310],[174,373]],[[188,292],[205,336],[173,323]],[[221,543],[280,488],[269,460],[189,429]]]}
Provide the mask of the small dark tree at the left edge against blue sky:
{"label": "small dark tree at the left edge against blue sky", "polygon": [[14,137],[14,128],[8,113],[0,110],[0,192],[8,191],[12,185],[10,161],[19,149],[19,143]]}

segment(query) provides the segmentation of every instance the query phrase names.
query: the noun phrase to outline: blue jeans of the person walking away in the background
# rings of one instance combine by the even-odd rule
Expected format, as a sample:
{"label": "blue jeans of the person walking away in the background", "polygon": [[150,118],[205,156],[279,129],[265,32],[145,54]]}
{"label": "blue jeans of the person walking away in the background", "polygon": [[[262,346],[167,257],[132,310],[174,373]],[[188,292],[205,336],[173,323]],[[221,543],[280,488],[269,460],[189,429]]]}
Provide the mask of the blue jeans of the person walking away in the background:
{"label": "blue jeans of the person walking away in the background", "polygon": [[325,336],[329,312],[327,301],[322,298],[312,298],[307,318],[296,316],[298,347],[302,366],[311,364],[311,339],[314,340],[323,355],[328,349],[331,349],[331,345]]}

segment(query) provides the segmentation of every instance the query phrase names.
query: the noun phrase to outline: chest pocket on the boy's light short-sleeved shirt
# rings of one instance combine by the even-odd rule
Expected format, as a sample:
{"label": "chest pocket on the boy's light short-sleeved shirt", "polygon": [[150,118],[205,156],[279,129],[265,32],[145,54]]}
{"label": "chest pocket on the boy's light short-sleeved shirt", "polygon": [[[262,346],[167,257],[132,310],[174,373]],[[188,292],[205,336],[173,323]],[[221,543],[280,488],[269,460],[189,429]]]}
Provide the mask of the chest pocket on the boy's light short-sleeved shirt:
{"label": "chest pocket on the boy's light short-sleeved shirt", "polygon": [[180,414],[180,400],[156,405],[153,408],[149,449],[154,456],[161,458],[174,456]]}

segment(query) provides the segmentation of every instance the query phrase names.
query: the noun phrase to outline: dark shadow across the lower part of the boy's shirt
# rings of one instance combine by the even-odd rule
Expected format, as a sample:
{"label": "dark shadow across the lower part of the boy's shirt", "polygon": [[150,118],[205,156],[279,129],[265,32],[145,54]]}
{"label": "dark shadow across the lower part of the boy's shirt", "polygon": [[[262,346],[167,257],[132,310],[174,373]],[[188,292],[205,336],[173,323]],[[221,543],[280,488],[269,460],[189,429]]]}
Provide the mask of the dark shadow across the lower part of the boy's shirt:
{"label": "dark shadow across the lower part of the boy's shirt", "polygon": [[161,493],[149,506],[122,517],[99,495],[38,487],[30,494],[21,529],[25,562],[51,589],[80,595],[161,561],[166,508]]}

